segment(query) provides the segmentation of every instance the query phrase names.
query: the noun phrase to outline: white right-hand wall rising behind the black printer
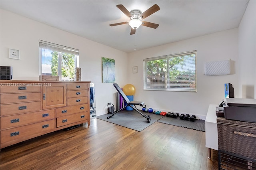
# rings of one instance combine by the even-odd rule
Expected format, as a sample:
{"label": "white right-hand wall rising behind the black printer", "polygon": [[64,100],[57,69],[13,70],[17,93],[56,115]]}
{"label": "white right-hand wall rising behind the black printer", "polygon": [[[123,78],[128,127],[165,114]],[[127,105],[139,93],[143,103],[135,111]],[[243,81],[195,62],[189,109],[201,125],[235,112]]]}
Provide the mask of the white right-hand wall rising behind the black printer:
{"label": "white right-hand wall rising behind the black printer", "polygon": [[239,25],[239,96],[256,98],[256,1],[250,0]]}

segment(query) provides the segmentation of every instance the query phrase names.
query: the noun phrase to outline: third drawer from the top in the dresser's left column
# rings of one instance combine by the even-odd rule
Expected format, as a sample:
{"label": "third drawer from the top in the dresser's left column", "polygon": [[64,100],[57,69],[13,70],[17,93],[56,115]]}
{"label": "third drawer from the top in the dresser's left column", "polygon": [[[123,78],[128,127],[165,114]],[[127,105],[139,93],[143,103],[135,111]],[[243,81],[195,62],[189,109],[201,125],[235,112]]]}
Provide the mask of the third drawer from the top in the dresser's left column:
{"label": "third drawer from the top in the dresser's left column", "polygon": [[14,115],[18,113],[25,113],[25,112],[39,111],[39,110],[41,110],[40,101],[1,105],[1,116]]}

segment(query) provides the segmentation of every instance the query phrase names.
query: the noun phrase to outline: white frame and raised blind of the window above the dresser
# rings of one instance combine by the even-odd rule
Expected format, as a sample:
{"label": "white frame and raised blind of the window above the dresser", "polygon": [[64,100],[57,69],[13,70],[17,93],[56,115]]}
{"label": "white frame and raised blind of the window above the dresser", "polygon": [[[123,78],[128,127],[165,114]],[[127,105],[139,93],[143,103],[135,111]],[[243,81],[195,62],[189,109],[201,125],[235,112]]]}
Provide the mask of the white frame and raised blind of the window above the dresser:
{"label": "white frame and raised blind of the window above the dresser", "polygon": [[38,56],[39,56],[39,73],[41,75],[44,75],[44,73],[42,73],[42,49],[43,48],[51,49],[53,51],[58,51],[58,69],[59,69],[60,81],[62,80],[62,74],[61,74],[62,53],[74,54],[75,55],[75,61],[74,61],[75,67],[79,67],[79,50],[78,49],[39,40],[39,55]]}

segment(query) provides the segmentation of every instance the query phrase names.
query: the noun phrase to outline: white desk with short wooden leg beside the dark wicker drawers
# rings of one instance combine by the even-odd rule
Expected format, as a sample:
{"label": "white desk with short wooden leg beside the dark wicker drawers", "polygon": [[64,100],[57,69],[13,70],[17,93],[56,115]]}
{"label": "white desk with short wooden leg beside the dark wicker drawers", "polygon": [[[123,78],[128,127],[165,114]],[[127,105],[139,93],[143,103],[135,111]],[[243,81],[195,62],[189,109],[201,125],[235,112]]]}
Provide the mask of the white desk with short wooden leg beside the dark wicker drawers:
{"label": "white desk with short wooden leg beside the dark wicker drawers", "polygon": [[208,158],[211,158],[212,149],[218,150],[218,129],[216,107],[218,105],[210,104],[205,119],[205,146],[208,148]]}

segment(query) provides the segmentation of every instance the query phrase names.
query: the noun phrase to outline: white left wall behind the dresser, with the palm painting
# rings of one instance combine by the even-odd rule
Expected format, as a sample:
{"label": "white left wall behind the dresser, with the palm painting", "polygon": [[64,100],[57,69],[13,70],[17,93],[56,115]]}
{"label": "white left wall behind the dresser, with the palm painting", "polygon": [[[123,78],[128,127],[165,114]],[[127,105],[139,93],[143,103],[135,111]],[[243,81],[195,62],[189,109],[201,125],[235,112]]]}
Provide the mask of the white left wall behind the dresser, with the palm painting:
{"label": "white left wall behind the dresser, with the palm painting", "polygon": [[[1,9],[0,65],[13,67],[15,80],[39,80],[38,40],[79,49],[82,81],[95,83],[97,115],[107,113],[107,103],[115,102],[112,83],[102,83],[101,57],[115,59],[116,82],[126,84],[128,54],[46,24]],[[9,48],[20,50],[20,60],[9,59]]]}

